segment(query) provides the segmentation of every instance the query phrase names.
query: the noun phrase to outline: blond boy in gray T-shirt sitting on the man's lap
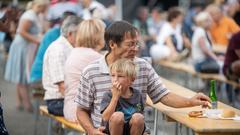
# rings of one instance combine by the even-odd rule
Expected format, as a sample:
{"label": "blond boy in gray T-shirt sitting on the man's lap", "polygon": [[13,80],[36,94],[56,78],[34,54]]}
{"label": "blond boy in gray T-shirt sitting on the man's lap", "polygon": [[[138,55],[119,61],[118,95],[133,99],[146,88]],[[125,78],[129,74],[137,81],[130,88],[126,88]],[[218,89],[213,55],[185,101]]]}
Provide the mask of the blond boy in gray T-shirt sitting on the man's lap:
{"label": "blond boy in gray T-shirt sitting on the man's lap", "polygon": [[[131,87],[136,77],[136,65],[128,59],[119,59],[110,66],[112,89],[104,94],[101,113],[104,132],[111,135],[141,135],[144,132],[144,103],[140,91]],[[114,113],[121,113],[118,127],[111,125]],[[111,129],[117,128],[114,133]]]}

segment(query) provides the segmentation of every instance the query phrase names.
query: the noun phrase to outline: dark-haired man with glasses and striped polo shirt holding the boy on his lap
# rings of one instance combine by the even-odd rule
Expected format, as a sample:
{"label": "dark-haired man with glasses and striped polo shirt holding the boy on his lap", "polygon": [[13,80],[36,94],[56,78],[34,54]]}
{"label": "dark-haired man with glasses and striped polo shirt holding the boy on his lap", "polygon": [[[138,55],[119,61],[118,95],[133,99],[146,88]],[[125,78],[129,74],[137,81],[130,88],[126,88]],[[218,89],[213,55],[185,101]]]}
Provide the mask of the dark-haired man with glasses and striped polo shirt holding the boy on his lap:
{"label": "dark-haired man with glasses and striped polo shirt holding the boy on his lap", "polygon": [[[138,38],[138,30],[131,24],[125,21],[113,23],[105,32],[108,54],[84,69],[76,100],[78,103],[77,117],[89,135],[104,135],[103,128],[100,127],[102,122],[100,102],[103,94],[110,91],[112,87],[108,67],[120,58],[131,59],[139,67],[132,87],[140,90],[144,102],[148,94],[154,103],[162,102],[171,107],[207,105],[209,98],[201,93],[192,98],[184,98],[171,93],[162,84],[152,66],[145,60],[135,57],[139,49]],[[115,133],[114,135],[123,130],[119,128],[119,125],[122,125],[124,117],[118,114],[112,115],[109,123],[110,132]],[[142,122],[142,120],[141,117],[136,117],[135,122]]]}

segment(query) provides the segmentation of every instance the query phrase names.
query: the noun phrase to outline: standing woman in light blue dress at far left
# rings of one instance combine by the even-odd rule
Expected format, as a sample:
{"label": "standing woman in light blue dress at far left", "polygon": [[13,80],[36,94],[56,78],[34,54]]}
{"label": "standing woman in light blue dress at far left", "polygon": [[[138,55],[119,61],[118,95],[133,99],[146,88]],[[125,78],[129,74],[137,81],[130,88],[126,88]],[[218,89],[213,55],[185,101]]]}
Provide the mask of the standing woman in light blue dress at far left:
{"label": "standing woman in light blue dress at far left", "polygon": [[32,111],[32,105],[28,96],[28,69],[29,54],[33,53],[40,42],[41,33],[39,18],[40,13],[44,13],[49,1],[33,0],[32,8],[25,11],[20,18],[16,36],[12,42],[9,58],[6,65],[5,79],[15,83],[17,89],[16,107],[23,107]]}

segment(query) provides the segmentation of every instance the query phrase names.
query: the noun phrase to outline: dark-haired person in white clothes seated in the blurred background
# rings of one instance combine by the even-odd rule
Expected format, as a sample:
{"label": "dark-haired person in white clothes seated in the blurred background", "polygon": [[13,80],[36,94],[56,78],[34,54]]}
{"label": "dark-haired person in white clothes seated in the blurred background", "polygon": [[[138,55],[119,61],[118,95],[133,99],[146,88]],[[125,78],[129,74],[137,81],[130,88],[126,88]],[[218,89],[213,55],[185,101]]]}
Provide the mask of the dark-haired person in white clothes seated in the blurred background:
{"label": "dark-haired person in white clothes seated in the blurred background", "polygon": [[152,46],[150,54],[154,60],[168,59],[176,61],[185,48],[190,48],[190,41],[182,34],[184,14],[178,7],[170,8],[165,22],[157,36],[157,44]]}

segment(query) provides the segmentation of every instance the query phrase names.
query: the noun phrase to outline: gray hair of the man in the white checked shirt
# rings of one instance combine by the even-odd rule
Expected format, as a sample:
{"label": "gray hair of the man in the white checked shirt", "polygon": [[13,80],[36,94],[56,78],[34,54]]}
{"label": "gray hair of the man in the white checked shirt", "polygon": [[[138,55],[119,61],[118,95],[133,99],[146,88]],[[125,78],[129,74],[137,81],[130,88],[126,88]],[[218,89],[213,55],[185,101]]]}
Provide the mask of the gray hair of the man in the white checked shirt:
{"label": "gray hair of the man in the white checked shirt", "polygon": [[69,32],[76,32],[78,24],[82,21],[81,18],[71,15],[64,19],[61,26],[61,35],[67,37]]}

